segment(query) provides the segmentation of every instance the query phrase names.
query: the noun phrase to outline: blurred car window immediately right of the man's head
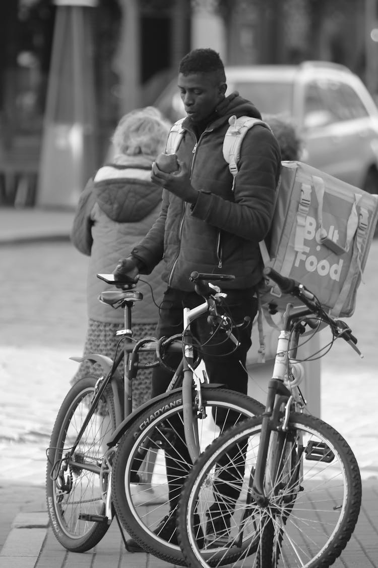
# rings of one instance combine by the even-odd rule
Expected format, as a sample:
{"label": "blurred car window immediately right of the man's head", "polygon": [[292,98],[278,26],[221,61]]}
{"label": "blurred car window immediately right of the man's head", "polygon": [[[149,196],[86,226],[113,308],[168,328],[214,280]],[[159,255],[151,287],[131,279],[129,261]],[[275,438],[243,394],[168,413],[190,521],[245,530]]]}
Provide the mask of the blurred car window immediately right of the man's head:
{"label": "blurred car window immediately right of the man's head", "polygon": [[232,90],[251,101],[262,114],[293,116],[293,86],[288,82],[230,81]]}

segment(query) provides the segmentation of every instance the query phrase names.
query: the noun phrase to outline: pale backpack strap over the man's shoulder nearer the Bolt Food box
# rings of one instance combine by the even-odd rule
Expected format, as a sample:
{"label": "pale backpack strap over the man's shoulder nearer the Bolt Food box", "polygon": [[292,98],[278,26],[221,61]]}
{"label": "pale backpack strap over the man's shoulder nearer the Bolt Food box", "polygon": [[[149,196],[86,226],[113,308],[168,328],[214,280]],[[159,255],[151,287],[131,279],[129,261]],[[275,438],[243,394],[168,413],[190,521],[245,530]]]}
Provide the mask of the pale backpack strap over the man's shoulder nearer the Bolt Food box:
{"label": "pale backpack strap over the man's shoulder nearer the Bolt Food box", "polygon": [[237,164],[240,160],[240,147],[243,142],[244,136],[247,134],[248,130],[252,128],[255,124],[261,124],[265,128],[271,128],[264,120],[258,118],[253,118],[252,116],[230,116],[228,119],[228,124],[230,126],[224,135],[223,140],[223,157],[228,164],[228,168],[233,177],[232,191],[235,186],[235,176],[237,174]]}

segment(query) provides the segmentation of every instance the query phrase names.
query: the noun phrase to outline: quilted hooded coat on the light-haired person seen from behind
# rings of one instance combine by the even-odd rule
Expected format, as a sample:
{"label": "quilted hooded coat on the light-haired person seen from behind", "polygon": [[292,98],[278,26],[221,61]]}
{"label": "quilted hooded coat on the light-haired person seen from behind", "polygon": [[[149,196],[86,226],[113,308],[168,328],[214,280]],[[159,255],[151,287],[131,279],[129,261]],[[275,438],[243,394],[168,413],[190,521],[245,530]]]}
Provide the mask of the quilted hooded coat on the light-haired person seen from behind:
{"label": "quilted hooded coat on the light-haired person seen from behind", "polygon": [[[116,290],[96,277],[112,273],[118,259],[146,235],[156,220],[162,201],[162,190],[151,182],[152,158],[125,157],[122,165],[103,166],[91,178],[80,195],[71,240],[83,254],[90,255],[87,277],[88,318],[106,323],[122,323],[123,310],[99,302],[104,290]],[[142,277],[152,286],[157,304],[165,288],[161,278],[162,264]],[[154,323],[158,308],[150,288],[142,282],[137,290],[143,294],[133,308],[134,323]]]}

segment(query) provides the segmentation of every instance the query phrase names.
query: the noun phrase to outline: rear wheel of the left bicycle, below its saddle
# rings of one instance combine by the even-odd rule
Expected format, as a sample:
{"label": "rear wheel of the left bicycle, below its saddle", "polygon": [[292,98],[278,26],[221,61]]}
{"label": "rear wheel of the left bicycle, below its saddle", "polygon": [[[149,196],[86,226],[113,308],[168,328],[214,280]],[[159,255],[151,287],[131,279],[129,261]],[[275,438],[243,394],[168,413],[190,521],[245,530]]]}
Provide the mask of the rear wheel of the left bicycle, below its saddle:
{"label": "rear wheel of the left bicycle, below its saddle", "polygon": [[[46,501],[57,540],[73,552],[85,552],[97,544],[108,523],[94,522],[105,513],[105,498],[112,455],[106,444],[116,420],[111,386],[107,386],[75,449],[65,460],[82,428],[98,377],[80,379],[63,400],[54,424],[46,469]],[[105,456],[105,454],[107,454]]]}

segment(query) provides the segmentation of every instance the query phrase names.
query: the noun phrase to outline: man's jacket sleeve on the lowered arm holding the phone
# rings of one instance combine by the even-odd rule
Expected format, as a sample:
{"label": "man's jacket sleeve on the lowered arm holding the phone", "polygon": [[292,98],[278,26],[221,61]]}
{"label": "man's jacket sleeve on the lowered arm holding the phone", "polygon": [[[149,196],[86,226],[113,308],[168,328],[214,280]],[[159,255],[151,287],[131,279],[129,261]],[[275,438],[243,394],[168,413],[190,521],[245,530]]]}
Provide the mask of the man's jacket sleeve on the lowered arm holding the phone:
{"label": "man's jacket sleeve on the lowered arm holding the phone", "polygon": [[168,203],[168,191],[163,189],[162,207],[160,208],[158,219],[156,219],[147,235],[131,250],[132,256],[138,258],[143,264],[141,268],[142,274],[150,274],[163,258]]}

